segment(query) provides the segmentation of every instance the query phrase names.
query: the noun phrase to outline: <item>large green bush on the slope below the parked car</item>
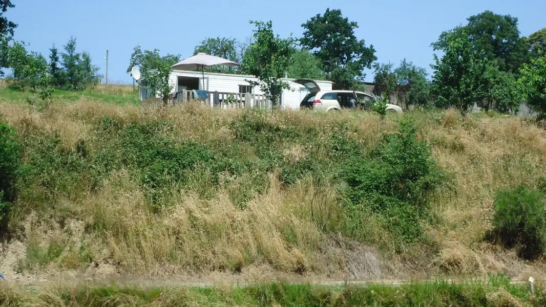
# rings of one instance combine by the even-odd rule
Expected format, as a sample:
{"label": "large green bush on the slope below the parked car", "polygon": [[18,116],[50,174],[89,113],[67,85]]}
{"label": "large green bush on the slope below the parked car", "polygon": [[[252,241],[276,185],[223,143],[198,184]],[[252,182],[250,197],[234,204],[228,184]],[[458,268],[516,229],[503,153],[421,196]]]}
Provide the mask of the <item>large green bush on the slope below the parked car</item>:
{"label": "large green bush on the slope below the parked car", "polygon": [[403,121],[399,131],[386,135],[371,154],[348,155],[341,165],[341,179],[348,186],[349,232],[360,228],[359,212],[366,206],[381,216],[400,244],[423,236],[420,219],[428,213],[427,198],[442,177],[429,144],[418,141],[416,131],[413,122]]}

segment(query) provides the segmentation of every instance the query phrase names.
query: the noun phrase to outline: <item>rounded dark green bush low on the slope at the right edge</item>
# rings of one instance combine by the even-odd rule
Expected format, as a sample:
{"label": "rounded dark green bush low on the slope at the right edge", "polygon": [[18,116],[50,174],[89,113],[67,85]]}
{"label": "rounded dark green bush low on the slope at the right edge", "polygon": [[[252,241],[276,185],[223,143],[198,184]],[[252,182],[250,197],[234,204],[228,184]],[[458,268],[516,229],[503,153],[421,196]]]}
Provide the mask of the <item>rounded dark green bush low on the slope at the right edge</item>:
{"label": "rounded dark green bush low on the slope at the right edge", "polygon": [[535,259],[546,246],[544,194],[525,185],[498,192],[493,220],[495,239],[519,247],[520,257]]}

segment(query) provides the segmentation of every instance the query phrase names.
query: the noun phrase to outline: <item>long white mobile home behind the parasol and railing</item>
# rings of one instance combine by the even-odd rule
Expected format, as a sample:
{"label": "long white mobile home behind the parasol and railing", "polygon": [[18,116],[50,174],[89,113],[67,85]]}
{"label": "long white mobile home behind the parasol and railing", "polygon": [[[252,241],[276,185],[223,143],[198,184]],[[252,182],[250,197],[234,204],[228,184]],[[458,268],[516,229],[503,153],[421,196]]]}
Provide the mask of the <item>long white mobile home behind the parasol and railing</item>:
{"label": "long white mobile home behind the parasol and railing", "polygon": [[[172,93],[182,92],[183,90],[205,90],[209,93],[233,93],[233,94],[263,94],[257,86],[251,86],[247,80],[258,81],[254,76],[205,73],[204,88],[203,74],[201,71],[174,70],[171,72],[169,82],[173,86]],[[298,83],[295,79],[283,79],[288,82],[290,89],[284,89],[281,95],[281,107],[283,109],[299,109],[301,100],[307,95],[307,89]],[[321,89],[328,91],[332,89],[330,81],[316,81]],[[146,88],[141,88],[141,99],[149,98]]]}

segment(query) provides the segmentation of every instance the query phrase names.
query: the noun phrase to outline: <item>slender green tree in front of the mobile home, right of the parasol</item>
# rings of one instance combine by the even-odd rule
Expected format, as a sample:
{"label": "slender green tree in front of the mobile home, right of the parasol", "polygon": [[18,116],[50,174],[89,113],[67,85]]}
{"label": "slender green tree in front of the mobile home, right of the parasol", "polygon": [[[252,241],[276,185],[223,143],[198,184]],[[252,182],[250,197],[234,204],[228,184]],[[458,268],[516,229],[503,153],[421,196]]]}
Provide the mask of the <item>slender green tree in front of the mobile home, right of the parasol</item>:
{"label": "slender green tree in front of the mobile home, right of the parasol", "polygon": [[256,26],[253,30],[254,43],[245,53],[242,68],[258,77],[258,81],[248,83],[259,86],[265,94],[271,95],[271,101],[276,106],[282,90],[290,88],[282,78],[292,62],[293,40],[275,36],[271,21],[250,23]]}

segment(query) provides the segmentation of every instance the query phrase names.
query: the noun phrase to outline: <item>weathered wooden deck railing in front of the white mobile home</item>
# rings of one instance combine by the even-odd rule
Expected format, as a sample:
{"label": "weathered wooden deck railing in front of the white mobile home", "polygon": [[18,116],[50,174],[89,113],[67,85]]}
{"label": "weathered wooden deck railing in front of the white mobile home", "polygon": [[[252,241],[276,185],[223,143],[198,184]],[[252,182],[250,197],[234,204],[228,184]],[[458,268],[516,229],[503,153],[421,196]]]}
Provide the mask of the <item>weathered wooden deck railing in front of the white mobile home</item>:
{"label": "weathered wooden deck railing in front of the white mobile home", "polygon": [[201,100],[203,105],[218,107],[219,109],[271,109],[271,98],[269,95],[251,93],[227,93],[207,92],[207,99],[195,97],[193,91],[180,91],[173,94],[169,99],[169,105],[186,103],[189,100]]}

